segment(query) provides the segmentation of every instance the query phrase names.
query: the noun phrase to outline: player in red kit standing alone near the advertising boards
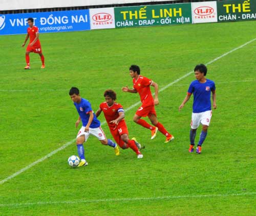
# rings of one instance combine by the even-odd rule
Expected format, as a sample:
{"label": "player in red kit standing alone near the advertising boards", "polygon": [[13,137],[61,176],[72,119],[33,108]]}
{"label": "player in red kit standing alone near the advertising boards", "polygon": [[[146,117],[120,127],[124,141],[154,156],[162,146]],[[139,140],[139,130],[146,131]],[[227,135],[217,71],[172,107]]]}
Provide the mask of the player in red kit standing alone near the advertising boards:
{"label": "player in red kit standing alone near the advertising boards", "polygon": [[40,41],[38,39],[39,32],[38,32],[38,28],[36,26],[34,26],[34,19],[33,18],[31,18],[31,17],[28,18],[28,25],[29,25],[29,28],[27,29],[28,34],[25,38],[24,43],[22,44],[22,46],[25,46],[28,38],[30,38],[29,45],[27,46],[27,50],[26,50],[27,65],[25,66],[25,69],[30,69],[29,54],[31,52],[39,54],[39,56],[41,58],[41,61],[42,61],[41,68],[44,69],[45,68],[45,57],[44,57],[44,55],[42,55],[41,44],[40,44]]}

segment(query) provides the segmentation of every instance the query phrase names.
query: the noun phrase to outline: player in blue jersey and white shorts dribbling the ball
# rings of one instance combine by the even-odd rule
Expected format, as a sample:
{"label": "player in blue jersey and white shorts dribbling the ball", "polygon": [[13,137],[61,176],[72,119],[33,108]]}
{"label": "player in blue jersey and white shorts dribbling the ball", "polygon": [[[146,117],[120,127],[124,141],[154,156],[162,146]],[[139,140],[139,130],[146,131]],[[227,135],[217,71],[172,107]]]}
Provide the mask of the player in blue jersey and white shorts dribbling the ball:
{"label": "player in blue jersey and white shorts dribbling the ball", "polygon": [[79,89],[72,87],[69,91],[70,98],[74,102],[79,117],[76,121],[76,128],[82,121],[82,127],[76,136],[77,152],[81,158],[78,166],[86,166],[88,162],[84,157],[83,142],[87,141],[90,134],[96,136],[103,145],[108,145],[114,148],[116,155],[119,155],[119,149],[115,142],[111,139],[106,139],[103,130],[100,127],[100,122],[94,114],[91,104],[86,99],[80,97]]}

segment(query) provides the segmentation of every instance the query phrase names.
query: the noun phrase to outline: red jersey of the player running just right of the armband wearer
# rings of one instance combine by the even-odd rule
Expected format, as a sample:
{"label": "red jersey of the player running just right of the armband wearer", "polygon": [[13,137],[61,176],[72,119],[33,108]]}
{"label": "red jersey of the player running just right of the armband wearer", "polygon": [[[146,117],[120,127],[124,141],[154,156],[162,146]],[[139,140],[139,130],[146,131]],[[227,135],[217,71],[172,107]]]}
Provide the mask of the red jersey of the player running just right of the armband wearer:
{"label": "red jersey of the player running just right of the armband wearer", "polygon": [[137,80],[133,78],[133,88],[136,89],[140,95],[140,101],[143,106],[154,105],[154,99],[150,90],[151,79],[139,76]]}

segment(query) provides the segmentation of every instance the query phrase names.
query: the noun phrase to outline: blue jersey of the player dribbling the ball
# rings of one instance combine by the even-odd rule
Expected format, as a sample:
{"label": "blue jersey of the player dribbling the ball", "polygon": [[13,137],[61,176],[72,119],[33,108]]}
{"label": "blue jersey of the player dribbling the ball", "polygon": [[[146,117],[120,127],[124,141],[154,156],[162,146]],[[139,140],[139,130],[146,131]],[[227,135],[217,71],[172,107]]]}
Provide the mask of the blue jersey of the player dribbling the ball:
{"label": "blue jersey of the player dribbling the ball", "polygon": [[[81,118],[82,126],[86,127],[87,123],[89,121],[89,117],[90,117],[89,112],[93,111],[90,102],[87,101],[86,99],[82,98],[82,100],[79,104],[74,102],[74,105],[76,107],[76,110],[77,110],[80,118]],[[93,115],[94,115],[94,117],[93,117],[93,121],[90,125],[90,128],[98,128],[100,126],[100,122],[97,119],[95,113],[93,113]]]}

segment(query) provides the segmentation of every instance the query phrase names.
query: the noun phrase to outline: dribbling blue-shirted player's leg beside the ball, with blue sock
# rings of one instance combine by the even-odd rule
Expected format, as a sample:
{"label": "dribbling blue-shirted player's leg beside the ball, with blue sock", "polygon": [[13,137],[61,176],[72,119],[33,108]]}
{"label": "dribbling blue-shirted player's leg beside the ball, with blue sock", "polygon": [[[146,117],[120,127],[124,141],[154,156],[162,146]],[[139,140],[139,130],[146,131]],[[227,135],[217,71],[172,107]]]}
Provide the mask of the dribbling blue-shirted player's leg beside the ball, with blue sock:
{"label": "dribbling blue-shirted player's leg beside the ball, with blue sock", "polygon": [[88,139],[88,137],[89,137],[89,133],[84,132],[84,127],[81,127],[81,129],[79,130],[78,135],[76,137],[77,153],[81,159],[78,166],[88,165],[88,162],[86,161],[86,157],[84,156],[84,148],[83,148],[83,142],[85,142]]}

